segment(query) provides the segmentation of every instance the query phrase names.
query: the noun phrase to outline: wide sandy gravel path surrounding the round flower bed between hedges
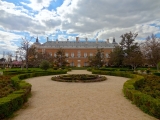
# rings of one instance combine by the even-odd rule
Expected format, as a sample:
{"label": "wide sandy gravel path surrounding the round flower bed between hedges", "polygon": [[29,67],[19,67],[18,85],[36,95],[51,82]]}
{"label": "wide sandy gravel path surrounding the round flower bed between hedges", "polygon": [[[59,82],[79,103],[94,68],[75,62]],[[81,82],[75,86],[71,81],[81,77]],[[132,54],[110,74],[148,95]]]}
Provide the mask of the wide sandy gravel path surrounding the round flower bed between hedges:
{"label": "wide sandy gravel path surrounding the round flower bed between hedges", "polygon": [[[68,74],[86,73],[73,70]],[[12,120],[156,120],[127,100],[127,78],[107,76],[96,83],[65,83],[51,76],[30,78],[32,97]]]}

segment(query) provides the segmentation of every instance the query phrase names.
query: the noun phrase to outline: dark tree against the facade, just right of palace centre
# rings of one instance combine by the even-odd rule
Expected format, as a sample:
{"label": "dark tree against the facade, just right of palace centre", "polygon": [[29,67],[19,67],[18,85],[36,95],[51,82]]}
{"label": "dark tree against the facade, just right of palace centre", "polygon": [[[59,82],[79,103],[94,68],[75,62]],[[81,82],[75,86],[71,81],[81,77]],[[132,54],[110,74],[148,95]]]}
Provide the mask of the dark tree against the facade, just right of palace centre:
{"label": "dark tree against the facade, just right of palace centre", "polygon": [[97,52],[95,53],[95,55],[88,57],[88,62],[89,65],[92,67],[102,67],[106,63],[103,49],[97,48]]}

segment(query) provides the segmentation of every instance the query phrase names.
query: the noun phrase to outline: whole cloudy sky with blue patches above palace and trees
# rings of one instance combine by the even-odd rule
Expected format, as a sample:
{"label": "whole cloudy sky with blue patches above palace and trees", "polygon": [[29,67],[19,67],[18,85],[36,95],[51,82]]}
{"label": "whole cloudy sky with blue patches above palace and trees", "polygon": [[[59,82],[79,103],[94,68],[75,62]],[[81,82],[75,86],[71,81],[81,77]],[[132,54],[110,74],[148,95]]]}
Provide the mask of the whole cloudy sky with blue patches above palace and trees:
{"label": "whole cloudy sky with blue patches above palace and trees", "polygon": [[22,38],[54,41],[120,42],[126,32],[137,41],[160,37],[160,0],[0,0],[0,58],[13,54]]}

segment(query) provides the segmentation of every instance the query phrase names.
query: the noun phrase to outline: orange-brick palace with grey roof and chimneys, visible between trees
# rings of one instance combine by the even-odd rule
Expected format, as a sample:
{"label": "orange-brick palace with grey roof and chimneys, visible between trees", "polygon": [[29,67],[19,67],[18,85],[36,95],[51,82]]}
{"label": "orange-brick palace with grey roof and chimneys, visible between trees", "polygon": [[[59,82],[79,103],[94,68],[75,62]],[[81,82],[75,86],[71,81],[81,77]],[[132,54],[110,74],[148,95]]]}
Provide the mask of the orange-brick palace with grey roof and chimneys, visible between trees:
{"label": "orange-brick palace with grey roof and chimneys, visible between trees", "polygon": [[110,43],[109,39],[106,41],[88,41],[85,38],[85,41],[80,41],[79,37],[76,37],[76,41],[49,41],[47,37],[47,41],[43,44],[39,43],[38,37],[36,42],[33,44],[39,52],[48,52],[50,55],[56,56],[56,52],[58,49],[62,48],[65,51],[65,55],[67,57],[67,62],[70,66],[76,67],[83,67],[88,66],[88,56],[93,56],[97,48],[103,48],[105,58],[106,58],[106,65],[109,57],[109,53],[113,50],[115,46],[118,44],[113,38],[113,42]]}

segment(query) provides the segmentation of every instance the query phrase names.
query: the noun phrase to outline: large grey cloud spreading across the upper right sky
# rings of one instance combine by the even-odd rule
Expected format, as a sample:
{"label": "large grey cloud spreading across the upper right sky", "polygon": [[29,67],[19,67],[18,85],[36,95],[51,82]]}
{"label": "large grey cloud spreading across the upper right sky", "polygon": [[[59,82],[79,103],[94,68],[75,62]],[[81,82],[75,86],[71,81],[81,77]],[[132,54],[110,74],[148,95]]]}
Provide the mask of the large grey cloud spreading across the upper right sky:
{"label": "large grey cloud spreading across the upper right sky", "polygon": [[72,2],[58,8],[64,17],[62,29],[70,33],[92,34],[102,29],[130,29],[160,16],[159,0],[89,0],[87,4],[85,0]]}

